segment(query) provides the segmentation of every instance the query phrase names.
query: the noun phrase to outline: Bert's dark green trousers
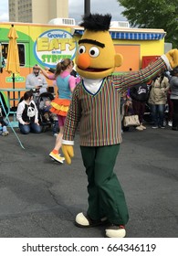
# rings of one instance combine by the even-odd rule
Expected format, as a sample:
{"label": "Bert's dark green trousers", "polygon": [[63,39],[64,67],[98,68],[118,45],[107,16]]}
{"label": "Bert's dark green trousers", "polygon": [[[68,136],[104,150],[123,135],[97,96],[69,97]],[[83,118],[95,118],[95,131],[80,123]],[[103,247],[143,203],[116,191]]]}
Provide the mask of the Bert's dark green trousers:
{"label": "Bert's dark green trousers", "polygon": [[89,208],[93,220],[107,217],[110,223],[125,225],[129,219],[124,193],[113,173],[120,144],[109,146],[80,146],[88,176]]}

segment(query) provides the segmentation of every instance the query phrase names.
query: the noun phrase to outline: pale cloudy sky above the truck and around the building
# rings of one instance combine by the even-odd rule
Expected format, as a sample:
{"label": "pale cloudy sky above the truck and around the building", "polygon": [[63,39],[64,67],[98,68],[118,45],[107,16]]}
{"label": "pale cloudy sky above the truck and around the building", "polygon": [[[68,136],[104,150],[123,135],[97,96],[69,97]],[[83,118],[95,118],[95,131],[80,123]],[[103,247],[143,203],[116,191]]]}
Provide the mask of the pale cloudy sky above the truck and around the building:
{"label": "pale cloudy sky above the truck and around the building", "polygon": [[[0,21],[8,21],[8,0],[0,0]],[[68,0],[68,17],[75,18],[78,23],[84,14],[85,0]],[[110,14],[112,21],[126,20],[121,16],[121,11],[117,0],[90,0],[90,12],[99,14]]]}

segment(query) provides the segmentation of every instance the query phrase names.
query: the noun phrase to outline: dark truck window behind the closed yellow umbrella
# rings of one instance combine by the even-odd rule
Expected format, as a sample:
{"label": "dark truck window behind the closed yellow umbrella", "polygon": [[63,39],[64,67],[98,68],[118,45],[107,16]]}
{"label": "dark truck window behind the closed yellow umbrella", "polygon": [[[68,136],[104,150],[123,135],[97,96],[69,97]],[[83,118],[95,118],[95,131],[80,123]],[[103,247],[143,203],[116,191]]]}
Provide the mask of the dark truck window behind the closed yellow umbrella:
{"label": "dark truck window behind the closed yellow umbrella", "polygon": [[[25,66],[25,45],[23,44],[17,44],[18,46],[18,55],[19,55],[19,62],[20,62],[20,66],[23,67]],[[2,47],[2,58],[7,59],[7,52],[8,52],[8,44],[2,43],[1,44]]]}

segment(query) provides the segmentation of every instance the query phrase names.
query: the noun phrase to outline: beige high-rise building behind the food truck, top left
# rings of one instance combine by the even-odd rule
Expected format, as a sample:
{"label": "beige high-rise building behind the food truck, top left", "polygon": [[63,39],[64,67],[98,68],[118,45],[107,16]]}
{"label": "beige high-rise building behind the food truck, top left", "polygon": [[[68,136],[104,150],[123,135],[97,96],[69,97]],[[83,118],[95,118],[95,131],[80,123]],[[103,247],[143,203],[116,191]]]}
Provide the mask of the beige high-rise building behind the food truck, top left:
{"label": "beige high-rise building behind the food truck, top left", "polygon": [[42,23],[68,18],[68,0],[9,0],[9,21]]}

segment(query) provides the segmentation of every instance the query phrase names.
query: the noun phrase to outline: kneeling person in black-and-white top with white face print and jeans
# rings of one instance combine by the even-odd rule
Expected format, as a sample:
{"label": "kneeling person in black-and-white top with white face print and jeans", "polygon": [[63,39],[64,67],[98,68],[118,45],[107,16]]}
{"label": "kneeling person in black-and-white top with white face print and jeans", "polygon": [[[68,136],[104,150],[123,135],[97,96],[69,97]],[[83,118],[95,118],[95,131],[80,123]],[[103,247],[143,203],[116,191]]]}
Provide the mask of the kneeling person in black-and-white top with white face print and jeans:
{"label": "kneeling person in black-and-white top with white face print and jeans", "polygon": [[21,133],[41,133],[42,127],[38,123],[38,111],[33,101],[33,91],[26,91],[22,101],[18,103],[16,119],[19,122]]}

